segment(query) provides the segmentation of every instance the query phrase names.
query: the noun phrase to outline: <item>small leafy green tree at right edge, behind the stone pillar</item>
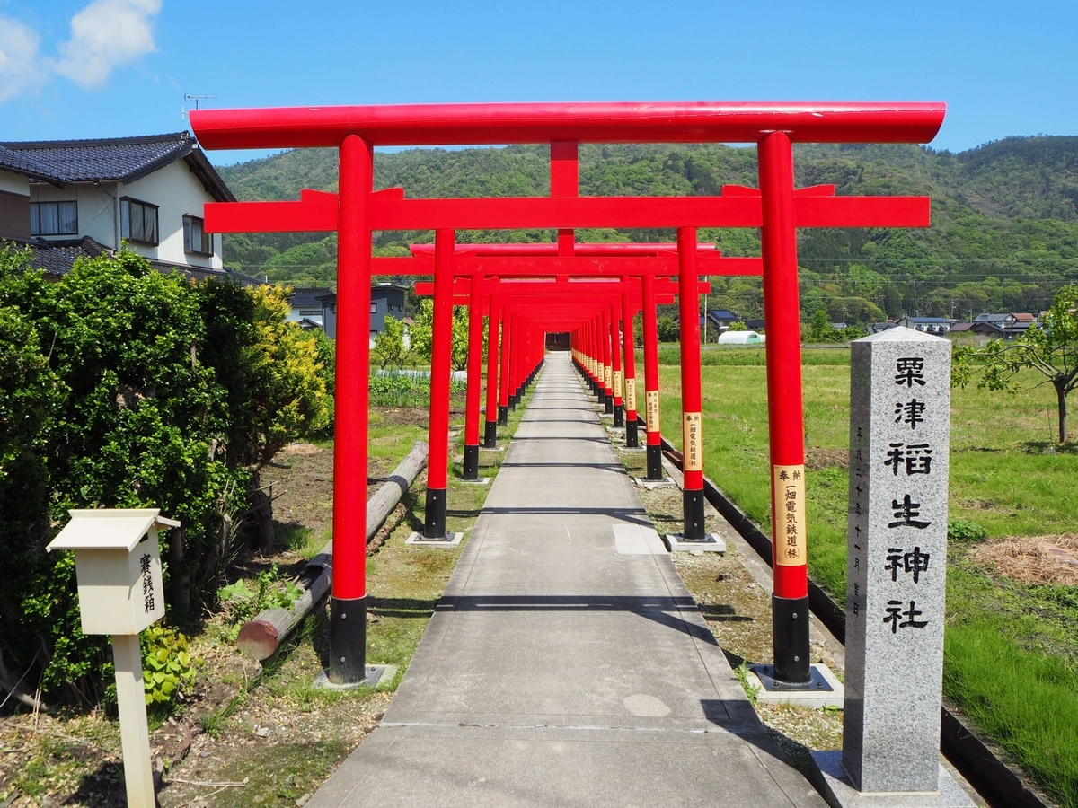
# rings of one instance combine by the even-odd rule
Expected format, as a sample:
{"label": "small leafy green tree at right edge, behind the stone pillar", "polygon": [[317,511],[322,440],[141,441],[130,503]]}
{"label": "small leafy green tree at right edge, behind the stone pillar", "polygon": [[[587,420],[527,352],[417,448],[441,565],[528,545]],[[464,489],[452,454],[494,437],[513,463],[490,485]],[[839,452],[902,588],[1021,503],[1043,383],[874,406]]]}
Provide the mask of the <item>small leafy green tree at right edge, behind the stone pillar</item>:
{"label": "small leafy green tree at right edge, behind the stone pillar", "polygon": [[1026,368],[1051,384],[1059,408],[1060,443],[1067,440],[1067,394],[1078,386],[1078,285],[1064,287],[1040,325],[1013,342],[992,339],[983,348],[959,346],[954,352],[953,385],[966,387],[975,375],[986,390],[1021,389],[1018,374]]}

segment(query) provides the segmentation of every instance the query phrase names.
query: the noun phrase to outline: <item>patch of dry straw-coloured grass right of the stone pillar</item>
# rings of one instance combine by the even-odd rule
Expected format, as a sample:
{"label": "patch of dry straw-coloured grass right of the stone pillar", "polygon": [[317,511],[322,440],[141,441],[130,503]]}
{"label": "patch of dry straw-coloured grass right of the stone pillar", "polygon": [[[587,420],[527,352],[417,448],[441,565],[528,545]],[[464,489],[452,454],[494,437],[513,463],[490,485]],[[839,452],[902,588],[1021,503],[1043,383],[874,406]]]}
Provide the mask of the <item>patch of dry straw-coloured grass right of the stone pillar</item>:
{"label": "patch of dry straw-coloured grass right of the stone pillar", "polygon": [[1078,586],[1078,534],[1010,538],[980,544],[970,558],[992,575],[1034,586]]}

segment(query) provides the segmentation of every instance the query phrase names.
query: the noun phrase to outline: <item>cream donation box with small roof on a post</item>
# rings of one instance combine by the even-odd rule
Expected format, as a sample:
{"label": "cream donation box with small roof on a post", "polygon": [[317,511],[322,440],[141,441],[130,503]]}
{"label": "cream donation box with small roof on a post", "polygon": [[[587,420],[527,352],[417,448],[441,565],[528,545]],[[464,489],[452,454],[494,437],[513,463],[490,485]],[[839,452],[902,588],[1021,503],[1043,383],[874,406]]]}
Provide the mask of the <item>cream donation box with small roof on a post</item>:
{"label": "cream donation box with small roof on a post", "polygon": [[180,523],[157,509],[69,511],[46,549],[73,549],[79,614],[87,635],[112,635],[128,808],[154,808],[138,635],[165,615],[157,531]]}

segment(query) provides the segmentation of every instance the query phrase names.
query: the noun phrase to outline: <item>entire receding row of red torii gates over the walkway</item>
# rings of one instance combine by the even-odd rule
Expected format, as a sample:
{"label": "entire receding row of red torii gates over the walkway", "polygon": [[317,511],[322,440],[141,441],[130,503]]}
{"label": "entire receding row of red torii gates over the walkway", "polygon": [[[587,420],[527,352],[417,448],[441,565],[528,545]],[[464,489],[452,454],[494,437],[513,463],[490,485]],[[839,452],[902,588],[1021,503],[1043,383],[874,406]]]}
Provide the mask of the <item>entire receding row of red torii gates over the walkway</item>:
{"label": "entire receding row of red torii gates over the walkway", "polygon": [[[768,415],[772,477],[774,591],[772,596],[776,679],[810,681],[808,587],[803,511],[787,513],[787,485],[804,500],[804,429],[798,299],[798,227],[926,227],[928,197],[835,196],[833,186],[794,190],[794,142],[927,143],[946,111],[942,102],[676,101],[595,103],[409,105],[248,110],[194,110],[191,124],[204,149],[335,148],[336,194],[303,191],[299,201],[209,203],[210,233],[337,233],[336,398],[333,476],[333,577],[330,595],[330,680],[362,681],[367,644],[367,429],[370,374],[370,281],[377,275],[433,275],[434,342],[431,361],[430,460],[425,535],[444,534],[447,474],[450,329],[457,292],[455,275],[467,276],[468,305],[485,310],[488,345],[500,344],[490,365],[498,373],[498,402],[487,391],[487,443],[494,412],[505,419],[542,361],[543,333],[569,331],[573,359],[611,409],[621,385],[613,372],[632,361],[637,308],[645,321],[646,412],[658,414],[655,305],[679,298],[681,321],[682,442],[686,501],[699,492],[703,509],[700,276],[763,276],[768,328]],[[759,189],[723,186],[719,196],[582,197],[579,143],[755,143]],[[406,199],[402,189],[374,191],[375,147],[549,143],[549,197]],[[677,246],[577,245],[581,227],[674,228]],[[760,228],[759,266],[723,264],[700,247],[700,227]],[[475,229],[556,229],[557,243],[461,246],[455,234]],[[374,231],[434,231],[433,254],[372,257]],[[619,249],[622,251],[619,253]],[[515,252],[514,252],[515,251]],[[677,277],[675,289],[674,277]],[[472,284],[470,279],[476,282]],[[539,280],[543,279],[543,280]],[[536,296],[513,289],[544,283]],[[579,284],[579,285],[578,285]],[[600,285],[602,284],[602,285]],[[606,285],[611,284],[611,285]],[[487,287],[489,285],[489,291]],[[556,287],[573,290],[568,295]],[[549,288],[550,291],[547,291]],[[606,290],[610,291],[606,291]],[[579,291],[578,291],[579,290]],[[585,292],[586,290],[586,292]],[[460,297],[464,298],[464,289]],[[565,296],[562,296],[565,295]],[[619,317],[620,307],[620,317]],[[473,317],[469,365],[478,367]],[[495,333],[495,328],[500,331]],[[475,363],[471,359],[474,356]],[[649,356],[651,360],[649,361]],[[488,364],[490,357],[488,356]],[[616,364],[618,363],[618,364]],[[610,367],[608,380],[607,367]],[[478,377],[480,374],[476,373]],[[620,373],[619,373],[620,376]],[[635,374],[634,374],[635,376]],[[472,377],[472,374],[469,374]],[[654,386],[652,387],[652,380]],[[618,389],[616,389],[618,388]],[[636,405],[635,385],[626,390]],[[466,443],[478,443],[479,388],[469,385],[469,413],[476,418]],[[617,410],[616,410],[617,413]],[[632,410],[630,412],[632,415]],[[647,419],[646,419],[647,421]],[[631,421],[632,422],[632,421]],[[495,422],[496,423],[496,422]],[[648,445],[658,445],[658,422]],[[496,426],[495,426],[496,429]],[[654,443],[652,443],[654,441]],[[474,457],[473,452],[470,452]],[[652,462],[649,456],[649,471]],[[469,466],[474,463],[470,459]],[[659,472],[658,465],[653,470]],[[438,501],[441,497],[441,502]],[[693,505],[693,507],[696,507]],[[686,530],[695,528],[687,505]],[[440,520],[440,521],[439,521]],[[436,524],[432,524],[436,523]],[[703,519],[700,519],[702,527]]]}

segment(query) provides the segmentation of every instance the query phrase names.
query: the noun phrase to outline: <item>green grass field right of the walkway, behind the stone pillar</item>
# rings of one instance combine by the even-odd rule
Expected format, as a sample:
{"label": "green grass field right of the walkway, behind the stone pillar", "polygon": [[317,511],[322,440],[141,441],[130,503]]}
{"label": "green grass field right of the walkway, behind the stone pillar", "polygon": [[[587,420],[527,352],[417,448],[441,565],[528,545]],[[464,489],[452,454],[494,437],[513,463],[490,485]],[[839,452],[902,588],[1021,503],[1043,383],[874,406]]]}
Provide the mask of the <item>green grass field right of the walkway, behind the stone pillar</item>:
{"label": "green grass field right of the walkway, behind the stone pillar", "polygon": [[[676,348],[661,352],[666,362],[677,357]],[[707,349],[703,357],[705,472],[770,530],[763,351]],[[810,574],[841,603],[849,351],[805,350],[802,364]],[[680,368],[662,366],[660,382],[663,433],[680,447]],[[954,389],[950,518],[982,525],[990,539],[1074,531],[1078,503],[1068,491],[1078,447],[1047,454],[1054,419],[1050,387],[1014,395]],[[1078,808],[1078,594],[990,577],[967,549],[950,552],[944,692],[1062,805]]]}

